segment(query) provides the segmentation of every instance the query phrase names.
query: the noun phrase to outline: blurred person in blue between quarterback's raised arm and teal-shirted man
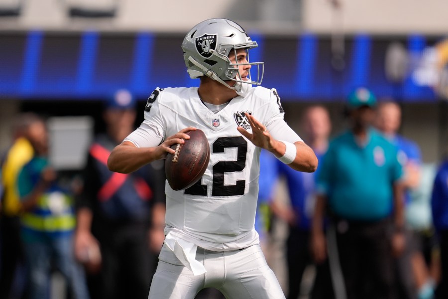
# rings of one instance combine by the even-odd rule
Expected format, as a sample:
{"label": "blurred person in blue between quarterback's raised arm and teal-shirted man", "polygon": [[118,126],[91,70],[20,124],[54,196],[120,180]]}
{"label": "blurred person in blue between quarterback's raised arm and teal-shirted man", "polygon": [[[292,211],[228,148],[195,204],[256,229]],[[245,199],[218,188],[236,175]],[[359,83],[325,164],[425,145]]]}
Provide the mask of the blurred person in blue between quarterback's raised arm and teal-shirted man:
{"label": "blurred person in blue between quarterback's raised arm and teal-shirted man", "polygon": [[[331,121],[328,111],[322,106],[309,107],[303,118],[303,140],[314,150],[320,160],[328,148],[331,133]],[[266,159],[269,157],[266,157]],[[275,182],[276,177],[286,179],[290,207],[284,206],[279,200],[272,200],[271,209],[280,219],[289,226],[288,239],[286,241],[286,254],[288,266],[288,290],[289,299],[297,299],[300,294],[303,274],[307,266],[313,265],[310,253],[310,219],[315,205],[315,178],[320,168],[314,173],[299,172],[285,167],[284,163],[272,158],[274,166],[270,175],[274,176],[269,181]],[[261,161],[262,166],[266,160]],[[263,172],[260,171],[260,190]],[[268,185],[269,183],[266,182]],[[261,194],[261,192],[260,192]],[[316,277],[310,298],[333,298],[330,270],[325,261],[316,267]]]}

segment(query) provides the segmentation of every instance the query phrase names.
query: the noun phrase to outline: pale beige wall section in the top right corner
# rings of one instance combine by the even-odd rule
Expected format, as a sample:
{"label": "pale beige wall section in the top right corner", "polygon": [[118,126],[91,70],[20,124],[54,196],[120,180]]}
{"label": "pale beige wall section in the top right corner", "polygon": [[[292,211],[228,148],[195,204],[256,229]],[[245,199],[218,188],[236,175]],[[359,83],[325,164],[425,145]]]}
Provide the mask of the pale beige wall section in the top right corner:
{"label": "pale beige wall section in the top right corner", "polygon": [[[339,2],[335,9],[330,2]],[[303,30],[448,34],[446,0],[303,0]]]}

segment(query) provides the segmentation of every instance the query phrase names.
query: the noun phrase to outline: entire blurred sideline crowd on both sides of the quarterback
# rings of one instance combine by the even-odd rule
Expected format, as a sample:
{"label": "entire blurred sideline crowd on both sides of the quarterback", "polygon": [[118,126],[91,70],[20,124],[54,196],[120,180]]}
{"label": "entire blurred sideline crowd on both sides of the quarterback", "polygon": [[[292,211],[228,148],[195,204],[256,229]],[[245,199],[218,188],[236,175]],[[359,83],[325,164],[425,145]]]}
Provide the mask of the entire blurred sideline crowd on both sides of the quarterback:
{"label": "entire blurred sideline crowd on both sides of the quarterback", "polygon": [[[45,119],[16,117],[0,155],[0,299],[60,298],[55,273],[64,298],[147,297],[164,240],[164,164],[130,174],[107,167],[134,130],[135,108],[126,90],[105,101],[106,132],[76,177],[51,164]],[[275,227],[286,228],[286,297],[448,298],[448,160],[423,163],[419,145],[399,134],[400,105],[358,88],[341,111],[341,133],[325,106],[286,113],[300,115],[297,132],[319,158],[318,170],[304,173],[260,156],[255,225],[274,272]],[[224,297],[203,290],[197,298]]]}

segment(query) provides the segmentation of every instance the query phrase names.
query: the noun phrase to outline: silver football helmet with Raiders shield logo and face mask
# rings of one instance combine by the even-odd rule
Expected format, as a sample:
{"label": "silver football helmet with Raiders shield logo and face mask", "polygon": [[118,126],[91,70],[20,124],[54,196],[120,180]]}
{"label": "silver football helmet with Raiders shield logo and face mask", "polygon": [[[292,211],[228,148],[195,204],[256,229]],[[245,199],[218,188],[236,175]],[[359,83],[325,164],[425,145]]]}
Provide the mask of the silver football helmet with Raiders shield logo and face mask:
{"label": "silver football helmet with Raiders shield logo and face mask", "polygon": [[[187,72],[192,79],[206,75],[237,91],[241,89],[241,83],[260,85],[263,80],[263,62],[249,62],[248,50],[257,46],[240,25],[223,18],[200,22],[187,33],[182,42]],[[232,51],[236,57],[238,49],[247,51],[247,63],[232,63],[228,58]],[[252,79],[250,72],[245,78],[248,80],[243,80],[238,71],[240,65],[256,66],[256,80]],[[224,82],[229,80],[236,84],[229,86]]]}

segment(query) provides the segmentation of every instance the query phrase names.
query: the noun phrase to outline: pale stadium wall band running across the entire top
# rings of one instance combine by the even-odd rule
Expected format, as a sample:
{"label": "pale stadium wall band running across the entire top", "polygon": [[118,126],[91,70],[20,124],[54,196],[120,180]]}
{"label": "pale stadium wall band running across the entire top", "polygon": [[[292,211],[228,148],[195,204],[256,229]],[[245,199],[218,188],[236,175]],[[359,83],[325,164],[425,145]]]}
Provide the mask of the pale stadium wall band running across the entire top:
{"label": "pale stadium wall band running across the entire top", "polygon": [[[0,0],[0,10],[22,2],[18,16],[0,17],[0,30],[30,28],[184,32],[201,20],[226,17],[261,32],[445,34],[446,0]],[[332,3],[340,3],[334,9]],[[18,5],[18,4],[16,4]],[[70,7],[115,9],[110,18],[70,17]]]}

